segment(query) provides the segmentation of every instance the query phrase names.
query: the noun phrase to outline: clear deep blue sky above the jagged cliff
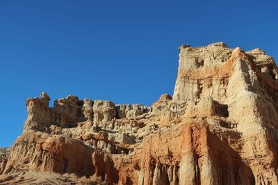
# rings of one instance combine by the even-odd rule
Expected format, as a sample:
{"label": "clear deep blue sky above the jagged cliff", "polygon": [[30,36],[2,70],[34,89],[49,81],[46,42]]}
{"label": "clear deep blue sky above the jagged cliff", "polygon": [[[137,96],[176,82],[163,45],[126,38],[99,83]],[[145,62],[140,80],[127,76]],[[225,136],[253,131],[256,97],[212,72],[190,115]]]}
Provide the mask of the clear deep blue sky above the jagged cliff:
{"label": "clear deep blue sky above the jagged cliff", "polygon": [[0,146],[47,91],[152,104],[172,94],[178,46],[223,41],[278,58],[278,1],[0,1]]}

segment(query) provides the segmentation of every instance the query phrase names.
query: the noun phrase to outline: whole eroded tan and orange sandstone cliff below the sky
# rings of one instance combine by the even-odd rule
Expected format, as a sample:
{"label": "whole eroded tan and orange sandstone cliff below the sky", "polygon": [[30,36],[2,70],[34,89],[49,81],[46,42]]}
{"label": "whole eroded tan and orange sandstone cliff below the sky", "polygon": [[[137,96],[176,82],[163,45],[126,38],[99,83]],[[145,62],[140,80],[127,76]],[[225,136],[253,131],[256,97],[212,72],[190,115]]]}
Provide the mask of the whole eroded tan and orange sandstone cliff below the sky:
{"label": "whole eroded tan and orange sandstone cliff below the sky", "polygon": [[33,175],[52,184],[40,175],[52,173],[69,183],[94,175],[108,184],[278,184],[273,58],[223,42],[179,50],[173,97],[149,107],[28,98],[24,132],[0,154],[0,183]]}

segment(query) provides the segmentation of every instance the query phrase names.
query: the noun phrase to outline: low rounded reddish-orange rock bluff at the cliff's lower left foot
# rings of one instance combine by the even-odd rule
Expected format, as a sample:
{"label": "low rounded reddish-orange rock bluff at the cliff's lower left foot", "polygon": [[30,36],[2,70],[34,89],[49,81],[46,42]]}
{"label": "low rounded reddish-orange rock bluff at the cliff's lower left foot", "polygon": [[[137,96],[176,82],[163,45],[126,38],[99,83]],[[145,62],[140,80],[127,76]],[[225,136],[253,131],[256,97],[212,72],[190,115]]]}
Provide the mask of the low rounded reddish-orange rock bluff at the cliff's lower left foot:
{"label": "low rounded reddish-orange rock bluff at the cliff's lower left foot", "polygon": [[15,141],[3,173],[34,170],[92,175],[93,151],[80,141],[61,135],[24,132]]}

